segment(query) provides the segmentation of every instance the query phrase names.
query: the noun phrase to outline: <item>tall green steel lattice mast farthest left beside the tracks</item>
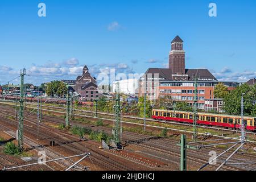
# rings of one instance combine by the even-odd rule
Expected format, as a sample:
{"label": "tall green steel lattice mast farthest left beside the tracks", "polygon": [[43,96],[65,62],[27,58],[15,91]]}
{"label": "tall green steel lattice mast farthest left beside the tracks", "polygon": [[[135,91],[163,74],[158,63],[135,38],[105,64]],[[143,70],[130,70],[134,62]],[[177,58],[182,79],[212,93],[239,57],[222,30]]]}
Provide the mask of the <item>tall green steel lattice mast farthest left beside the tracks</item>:
{"label": "tall green steel lattice mast farthest left beside the tracks", "polygon": [[26,69],[20,70],[20,100],[19,100],[19,124],[18,124],[18,148],[23,151],[23,110],[24,110],[24,75]]}

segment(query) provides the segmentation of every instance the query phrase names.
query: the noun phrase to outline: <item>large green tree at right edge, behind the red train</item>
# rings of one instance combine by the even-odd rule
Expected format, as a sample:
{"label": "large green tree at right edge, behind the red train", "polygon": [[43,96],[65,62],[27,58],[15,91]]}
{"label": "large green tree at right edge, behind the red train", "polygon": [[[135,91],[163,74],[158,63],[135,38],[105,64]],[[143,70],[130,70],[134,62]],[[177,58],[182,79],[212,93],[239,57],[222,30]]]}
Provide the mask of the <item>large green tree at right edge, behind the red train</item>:
{"label": "large green tree at right edge, behind the red train", "polygon": [[256,115],[256,86],[249,86],[243,84],[238,88],[232,90],[224,98],[224,110],[228,114],[240,115],[241,114],[241,96],[242,93],[244,99],[244,114],[245,115]]}

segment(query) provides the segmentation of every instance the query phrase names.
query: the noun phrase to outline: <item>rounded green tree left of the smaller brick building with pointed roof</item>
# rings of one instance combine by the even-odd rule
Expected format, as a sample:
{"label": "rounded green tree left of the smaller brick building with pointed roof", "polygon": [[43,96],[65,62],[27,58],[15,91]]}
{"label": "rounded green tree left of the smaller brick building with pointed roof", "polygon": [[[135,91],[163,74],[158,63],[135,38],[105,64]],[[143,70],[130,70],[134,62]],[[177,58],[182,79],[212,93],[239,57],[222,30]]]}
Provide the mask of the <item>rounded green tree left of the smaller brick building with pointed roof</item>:
{"label": "rounded green tree left of the smaller brick building with pointed roof", "polygon": [[47,96],[64,97],[67,94],[68,88],[63,81],[51,81],[46,84],[46,94]]}

